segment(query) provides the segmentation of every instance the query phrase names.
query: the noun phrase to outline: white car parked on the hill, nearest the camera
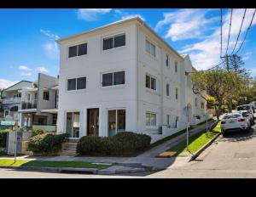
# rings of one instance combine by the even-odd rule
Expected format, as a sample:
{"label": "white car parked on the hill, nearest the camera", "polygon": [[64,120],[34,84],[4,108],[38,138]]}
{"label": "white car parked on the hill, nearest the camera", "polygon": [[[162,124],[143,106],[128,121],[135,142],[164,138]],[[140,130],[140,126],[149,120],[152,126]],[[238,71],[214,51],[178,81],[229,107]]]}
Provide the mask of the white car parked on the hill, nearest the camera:
{"label": "white car parked on the hill, nearest the camera", "polygon": [[229,113],[224,115],[221,121],[221,132],[224,135],[226,132],[231,131],[246,131],[248,132],[251,124],[250,120],[247,118],[247,114],[242,114],[241,112]]}

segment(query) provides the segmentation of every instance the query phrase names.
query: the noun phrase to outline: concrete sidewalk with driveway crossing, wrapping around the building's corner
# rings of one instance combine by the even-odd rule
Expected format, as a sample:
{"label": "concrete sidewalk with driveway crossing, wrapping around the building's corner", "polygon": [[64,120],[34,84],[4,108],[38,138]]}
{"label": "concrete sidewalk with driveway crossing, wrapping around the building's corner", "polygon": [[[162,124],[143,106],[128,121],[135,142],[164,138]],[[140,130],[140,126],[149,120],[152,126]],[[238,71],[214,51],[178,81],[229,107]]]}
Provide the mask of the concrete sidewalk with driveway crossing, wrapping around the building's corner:
{"label": "concrete sidewalk with driveway crossing, wrapping around the building's corner", "polygon": [[[208,127],[212,127],[215,121],[209,121]],[[197,132],[202,132],[207,127],[206,123],[195,127],[189,131],[189,135],[192,136]],[[145,172],[145,171],[159,171],[170,167],[183,166],[186,164],[190,157],[170,157],[170,158],[156,158],[155,156],[161,152],[170,149],[172,146],[180,143],[186,138],[186,133],[183,133],[176,138],[172,138],[164,144],[160,144],[153,149],[149,149],[141,155],[136,157],[74,157],[74,156],[19,156],[18,159],[23,160],[49,160],[49,161],[89,161],[92,163],[104,163],[113,164],[105,170],[99,170],[99,174],[116,174],[125,172]],[[3,158],[3,157],[0,157]],[[13,158],[13,157],[5,157]]]}

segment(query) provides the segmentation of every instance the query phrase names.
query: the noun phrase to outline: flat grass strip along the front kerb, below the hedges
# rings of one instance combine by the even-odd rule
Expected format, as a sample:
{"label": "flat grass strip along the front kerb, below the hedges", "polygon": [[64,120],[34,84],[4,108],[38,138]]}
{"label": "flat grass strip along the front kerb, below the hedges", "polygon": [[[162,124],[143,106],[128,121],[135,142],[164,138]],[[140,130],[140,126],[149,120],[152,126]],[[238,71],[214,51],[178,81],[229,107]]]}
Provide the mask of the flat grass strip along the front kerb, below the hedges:
{"label": "flat grass strip along the front kerb, below the hedges", "polygon": [[99,170],[111,165],[98,165],[86,161],[47,161],[47,160],[15,160],[0,159],[0,166],[43,166],[43,167],[75,167],[75,168],[96,168]]}

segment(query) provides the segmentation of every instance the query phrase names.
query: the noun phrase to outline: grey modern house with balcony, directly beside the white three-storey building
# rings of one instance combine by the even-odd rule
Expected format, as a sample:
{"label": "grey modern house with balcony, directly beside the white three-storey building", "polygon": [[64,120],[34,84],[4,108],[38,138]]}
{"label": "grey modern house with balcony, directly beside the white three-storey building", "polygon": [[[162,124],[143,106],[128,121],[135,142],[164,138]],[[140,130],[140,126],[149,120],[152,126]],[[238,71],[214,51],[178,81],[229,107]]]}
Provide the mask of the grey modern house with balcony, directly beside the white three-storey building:
{"label": "grey modern house with balcony, directly beside the white three-storey building", "polygon": [[38,73],[37,83],[21,88],[20,127],[55,131],[58,112],[58,78]]}

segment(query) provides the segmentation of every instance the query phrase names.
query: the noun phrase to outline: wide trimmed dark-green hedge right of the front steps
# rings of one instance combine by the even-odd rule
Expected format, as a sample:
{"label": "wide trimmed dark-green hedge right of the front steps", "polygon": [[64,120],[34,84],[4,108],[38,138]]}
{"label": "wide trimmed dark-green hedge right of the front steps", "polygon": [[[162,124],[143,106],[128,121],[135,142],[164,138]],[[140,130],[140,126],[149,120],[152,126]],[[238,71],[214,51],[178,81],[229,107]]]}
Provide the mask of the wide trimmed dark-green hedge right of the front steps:
{"label": "wide trimmed dark-green hedge right of the front steps", "polygon": [[84,136],[79,139],[79,155],[134,155],[147,149],[151,137],[135,132],[119,132],[111,137]]}

